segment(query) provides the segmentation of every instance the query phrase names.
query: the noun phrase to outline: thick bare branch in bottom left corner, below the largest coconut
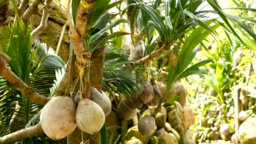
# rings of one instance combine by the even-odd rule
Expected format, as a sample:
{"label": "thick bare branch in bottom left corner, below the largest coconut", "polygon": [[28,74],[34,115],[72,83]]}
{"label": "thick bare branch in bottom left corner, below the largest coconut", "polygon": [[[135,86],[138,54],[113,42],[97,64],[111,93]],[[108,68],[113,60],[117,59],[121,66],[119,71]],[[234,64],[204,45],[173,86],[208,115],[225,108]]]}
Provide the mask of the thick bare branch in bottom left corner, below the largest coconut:
{"label": "thick bare branch in bottom left corner, below the largest coconut", "polygon": [[0,137],[0,143],[15,143],[29,137],[38,136],[44,134],[44,131],[41,127],[41,124],[38,123],[33,127],[21,129],[19,131],[15,131],[14,133],[5,135]]}

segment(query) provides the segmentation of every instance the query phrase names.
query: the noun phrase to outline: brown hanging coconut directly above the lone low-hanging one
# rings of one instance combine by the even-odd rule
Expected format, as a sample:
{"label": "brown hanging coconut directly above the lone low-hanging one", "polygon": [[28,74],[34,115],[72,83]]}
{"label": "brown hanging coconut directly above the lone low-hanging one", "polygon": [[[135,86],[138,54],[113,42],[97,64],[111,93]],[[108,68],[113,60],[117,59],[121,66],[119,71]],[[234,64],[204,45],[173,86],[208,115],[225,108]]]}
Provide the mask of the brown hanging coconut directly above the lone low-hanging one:
{"label": "brown hanging coconut directly above the lone low-hanging one", "polygon": [[150,83],[147,81],[140,86],[140,89],[141,91],[138,95],[138,98],[142,101],[143,104],[149,103],[149,101],[151,101],[154,98],[154,91],[152,85],[150,85]]}

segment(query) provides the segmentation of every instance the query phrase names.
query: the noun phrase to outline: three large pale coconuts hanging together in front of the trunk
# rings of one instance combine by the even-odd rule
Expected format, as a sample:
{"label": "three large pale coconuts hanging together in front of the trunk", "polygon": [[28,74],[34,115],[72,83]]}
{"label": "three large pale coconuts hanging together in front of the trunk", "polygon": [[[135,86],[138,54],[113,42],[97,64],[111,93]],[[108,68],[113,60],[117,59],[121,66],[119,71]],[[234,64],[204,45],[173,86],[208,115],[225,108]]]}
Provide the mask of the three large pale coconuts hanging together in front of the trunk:
{"label": "three large pale coconuts hanging together in front of the trunk", "polygon": [[91,135],[100,131],[111,111],[111,101],[100,89],[90,90],[90,99],[79,100],[78,92],[74,100],[71,97],[54,97],[44,106],[40,124],[50,139],[63,139],[76,127]]}

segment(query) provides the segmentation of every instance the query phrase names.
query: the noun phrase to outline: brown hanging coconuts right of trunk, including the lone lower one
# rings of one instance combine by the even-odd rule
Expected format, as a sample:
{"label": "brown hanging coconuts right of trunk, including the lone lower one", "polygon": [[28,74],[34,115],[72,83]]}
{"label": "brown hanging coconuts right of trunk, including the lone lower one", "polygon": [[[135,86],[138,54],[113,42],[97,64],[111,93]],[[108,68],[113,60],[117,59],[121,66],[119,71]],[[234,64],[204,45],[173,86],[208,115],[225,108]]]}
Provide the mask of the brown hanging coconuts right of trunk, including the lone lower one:
{"label": "brown hanging coconuts right of trunk, including the lone lower one", "polygon": [[[136,115],[137,109],[143,104],[158,106],[163,95],[166,95],[164,101],[174,95],[179,95],[180,99],[178,102],[181,103],[181,106],[185,105],[187,92],[181,82],[174,83],[168,92],[166,91],[166,82],[164,81],[160,81],[154,86],[150,85],[147,81],[140,85],[139,88],[140,91],[134,97],[125,98],[118,105],[118,116],[123,121],[132,119]],[[138,122],[138,130],[142,135],[151,135],[155,127],[155,117],[152,115],[147,115]]]}

